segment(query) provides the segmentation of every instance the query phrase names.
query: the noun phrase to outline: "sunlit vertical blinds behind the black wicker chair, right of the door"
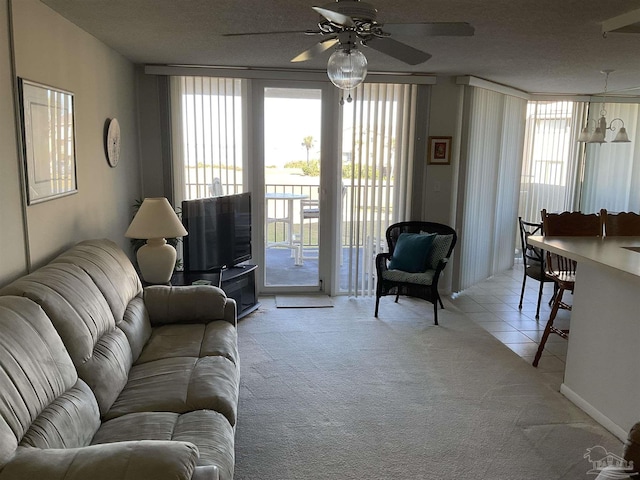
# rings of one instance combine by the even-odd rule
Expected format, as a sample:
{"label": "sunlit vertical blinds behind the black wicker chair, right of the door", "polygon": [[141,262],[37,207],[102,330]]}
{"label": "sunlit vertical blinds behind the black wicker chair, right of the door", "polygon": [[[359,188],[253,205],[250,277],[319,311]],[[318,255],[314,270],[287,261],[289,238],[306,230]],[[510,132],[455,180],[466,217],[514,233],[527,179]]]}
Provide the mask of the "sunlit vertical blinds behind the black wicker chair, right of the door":
{"label": "sunlit vertical blinds behind the black wicker chair, right of the door", "polygon": [[374,260],[386,249],[385,231],[409,218],[416,94],[415,85],[365,83],[343,107],[342,243],[350,295],[374,293]]}

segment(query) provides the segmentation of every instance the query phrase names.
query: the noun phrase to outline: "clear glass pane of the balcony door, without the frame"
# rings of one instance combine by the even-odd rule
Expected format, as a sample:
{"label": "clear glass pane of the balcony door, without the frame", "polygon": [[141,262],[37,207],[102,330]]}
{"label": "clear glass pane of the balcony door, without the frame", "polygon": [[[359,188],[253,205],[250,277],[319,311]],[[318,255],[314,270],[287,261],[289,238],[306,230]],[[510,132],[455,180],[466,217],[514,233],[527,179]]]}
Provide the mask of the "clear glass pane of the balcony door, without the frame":
{"label": "clear glass pane of the balcony door, without the frame", "polygon": [[264,284],[319,286],[322,90],[264,87]]}

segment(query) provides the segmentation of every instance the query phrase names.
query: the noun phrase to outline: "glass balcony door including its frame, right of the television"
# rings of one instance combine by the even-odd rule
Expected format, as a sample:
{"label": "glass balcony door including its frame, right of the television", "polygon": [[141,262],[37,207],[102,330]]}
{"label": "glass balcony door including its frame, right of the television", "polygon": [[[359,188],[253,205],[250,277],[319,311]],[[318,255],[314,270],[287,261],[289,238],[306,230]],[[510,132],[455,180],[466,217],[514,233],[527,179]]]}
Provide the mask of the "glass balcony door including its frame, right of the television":
{"label": "glass balcony door including its frame, right of the television", "polygon": [[333,88],[255,81],[252,90],[261,291],[328,293],[335,230],[330,185],[337,170],[330,153],[337,145],[337,128],[327,103],[334,98]]}

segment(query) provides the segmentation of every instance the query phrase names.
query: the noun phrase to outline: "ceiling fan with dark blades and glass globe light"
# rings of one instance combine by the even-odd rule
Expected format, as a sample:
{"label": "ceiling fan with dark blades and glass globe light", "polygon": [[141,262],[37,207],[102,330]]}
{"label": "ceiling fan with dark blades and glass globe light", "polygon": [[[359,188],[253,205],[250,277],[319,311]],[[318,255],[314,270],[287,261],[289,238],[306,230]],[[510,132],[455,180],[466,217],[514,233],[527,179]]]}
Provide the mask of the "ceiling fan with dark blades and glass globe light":
{"label": "ceiling fan with dark blades and glass globe light", "polygon": [[[304,33],[324,37],[313,47],[291,59],[304,62],[333,46],[336,51],[328,64],[329,78],[345,90],[354,88],[366,76],[367,61],[358,46],[366,46],[409,65],[418,65],[431,58],[429,53],[395,40],[392,36],[470,36],[474,28],[465,22],[379,23],[376,8],[359,0],[336,0],[323,7],[312,7],[320,14],[316,30],[231,33],[225,36]],[[333,60],[333,61],[332,61]]]}

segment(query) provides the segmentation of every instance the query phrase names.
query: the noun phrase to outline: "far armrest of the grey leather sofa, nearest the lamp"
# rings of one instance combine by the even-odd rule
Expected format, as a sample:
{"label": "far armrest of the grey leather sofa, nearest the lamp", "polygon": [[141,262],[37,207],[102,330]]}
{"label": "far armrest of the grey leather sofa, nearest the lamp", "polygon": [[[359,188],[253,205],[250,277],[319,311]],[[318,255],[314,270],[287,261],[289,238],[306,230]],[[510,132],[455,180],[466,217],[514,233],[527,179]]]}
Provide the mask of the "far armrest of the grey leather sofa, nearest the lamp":
{"label": "far armrest of the grey leather sofa, nearest the lamp", "polygon": [[154,327],[169,323],[208,323],[213,320],[226,320],[236,325],[235,300],[227,298],[222,289],[211,285],[146,287],[144,303]]}

